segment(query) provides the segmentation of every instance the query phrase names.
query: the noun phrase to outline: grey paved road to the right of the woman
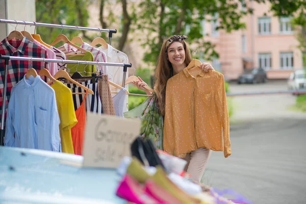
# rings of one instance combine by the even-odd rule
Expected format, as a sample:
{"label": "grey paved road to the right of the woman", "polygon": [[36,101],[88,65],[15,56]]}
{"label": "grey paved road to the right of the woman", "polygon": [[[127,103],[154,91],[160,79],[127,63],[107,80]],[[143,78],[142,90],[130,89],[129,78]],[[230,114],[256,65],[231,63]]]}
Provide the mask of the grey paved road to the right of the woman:
{"label": "grey paved road to the right of the woman", "polygon": [[[231,85],[232,92],[287,90],[286,82]],[[306,203],[306,114],[295,96],[233,98],[232,156],[213,152],[202,182],[235,189],[253,203]]]}

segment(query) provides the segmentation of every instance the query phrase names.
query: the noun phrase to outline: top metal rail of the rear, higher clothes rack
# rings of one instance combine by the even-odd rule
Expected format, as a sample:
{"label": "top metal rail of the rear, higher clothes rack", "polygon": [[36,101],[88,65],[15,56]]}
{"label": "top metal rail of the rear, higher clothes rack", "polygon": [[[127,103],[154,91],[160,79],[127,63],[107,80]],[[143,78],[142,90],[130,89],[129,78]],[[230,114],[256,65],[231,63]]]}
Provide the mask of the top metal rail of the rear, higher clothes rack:
{"label": "top metal rail of the rear, higher clothes rack", "polygon": [[[50,23],[42,23],[42,22],[27,22],[27,21],[20,21],[20,20],[7,20],[7,19],[0,19],[0,23],[12,23],[12,24],[23,24],[23,25],[35,25],[48,27],[48,28],[57,28],[57,29],[72,29],[72,30],[82,30],[82,31],[97,31],[97,32],[104,32],[109,33],[109,42],[111,44],[113,33],[117,33],[116,29],[99,29],[99,28],[88,28],[88,27],[79,27],[77,25],[62,25],[62,24],[50,24]],[[34,31],[34,33],[35,33]]]}

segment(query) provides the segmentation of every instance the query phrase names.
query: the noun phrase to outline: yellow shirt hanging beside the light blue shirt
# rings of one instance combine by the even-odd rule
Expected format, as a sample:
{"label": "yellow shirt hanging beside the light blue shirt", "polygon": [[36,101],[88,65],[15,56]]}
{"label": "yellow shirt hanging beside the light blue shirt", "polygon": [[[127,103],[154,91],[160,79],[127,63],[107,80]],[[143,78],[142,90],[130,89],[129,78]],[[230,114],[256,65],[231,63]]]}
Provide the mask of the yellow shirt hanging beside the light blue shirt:
{"label": "yellow shirt hanging beside the light blue shirt", "polygon": [[60,116],[60,135],[62,152],[74,154],[71,127],[77,124],[78,120],[75,116],[72,93],[63,83],[56,81],[51,87],[55,91],[58,112]]}

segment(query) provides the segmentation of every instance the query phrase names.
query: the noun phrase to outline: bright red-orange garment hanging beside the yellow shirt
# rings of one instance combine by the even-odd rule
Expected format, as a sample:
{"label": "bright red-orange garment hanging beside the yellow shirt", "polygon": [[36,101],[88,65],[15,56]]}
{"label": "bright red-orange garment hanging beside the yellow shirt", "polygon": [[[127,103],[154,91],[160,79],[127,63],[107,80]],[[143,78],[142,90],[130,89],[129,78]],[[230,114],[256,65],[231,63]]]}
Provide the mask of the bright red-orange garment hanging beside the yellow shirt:
{"label": "bright red-orange garment hanging beside the yellow shirt", "polygon": [[83,141],[84,141],[85,126],[86,126],[85,101],[86,101],[87,92],[88,89],[86,91],[81,106],[75,111],[75,116],[77,116],[78,123],[71,128],[71,137],[72,137],[74,155],[82,155],[83,152]]}

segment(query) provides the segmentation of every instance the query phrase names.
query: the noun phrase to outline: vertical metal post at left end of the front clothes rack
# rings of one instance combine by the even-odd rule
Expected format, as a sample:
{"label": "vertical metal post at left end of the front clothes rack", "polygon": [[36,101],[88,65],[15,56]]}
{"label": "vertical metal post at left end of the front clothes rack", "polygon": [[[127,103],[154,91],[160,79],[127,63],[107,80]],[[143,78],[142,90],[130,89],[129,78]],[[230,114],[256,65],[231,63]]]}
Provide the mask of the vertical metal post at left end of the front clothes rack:
{"label": "vertical metal post at left end of the front clothes rack", "polygon": [[3,101],[2,101],[2,120],[1,120],[1,136],[0,136],[0,145],[3,146],[4,144],[4,136],[5,136],[5,130],[4,130],[4,114],[5,114],[5,101],[6,101],[6,90],[7,90],[7,79],[8,79],[8,65],[10,56],[1,56],[1,59],[5,60],[5,68],[4,68],[4,90],[3,90]]}

